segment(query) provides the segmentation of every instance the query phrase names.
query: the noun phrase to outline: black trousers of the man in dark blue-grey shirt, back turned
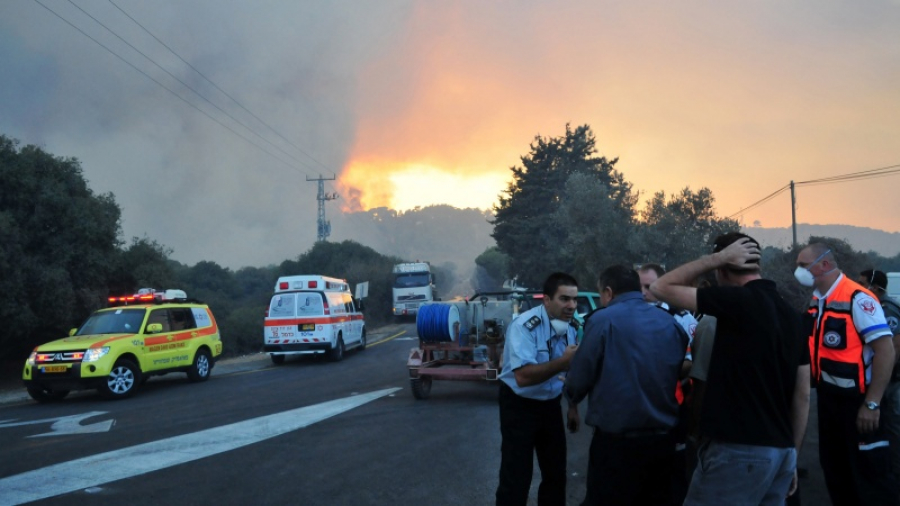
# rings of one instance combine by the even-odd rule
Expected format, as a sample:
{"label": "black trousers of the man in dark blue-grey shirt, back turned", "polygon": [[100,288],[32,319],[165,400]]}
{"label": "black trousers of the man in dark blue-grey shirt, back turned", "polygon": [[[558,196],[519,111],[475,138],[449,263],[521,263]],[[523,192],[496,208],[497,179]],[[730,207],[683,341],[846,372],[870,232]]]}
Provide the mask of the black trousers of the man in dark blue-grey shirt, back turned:
{"label": "black trousers of the man in dark blue-grey shirt, back turned", "polygon": [[582,506],[670,504],[674,453],[672,434],[622,437],[595,430]]}

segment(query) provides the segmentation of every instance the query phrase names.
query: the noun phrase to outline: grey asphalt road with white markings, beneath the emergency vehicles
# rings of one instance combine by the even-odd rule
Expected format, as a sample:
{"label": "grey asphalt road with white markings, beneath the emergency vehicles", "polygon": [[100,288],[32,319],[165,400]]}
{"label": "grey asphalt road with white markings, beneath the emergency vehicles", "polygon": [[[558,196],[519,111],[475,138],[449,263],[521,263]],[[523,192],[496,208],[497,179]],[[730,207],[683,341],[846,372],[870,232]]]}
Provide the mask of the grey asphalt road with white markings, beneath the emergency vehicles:
{"label": "grey asphalt road with white markings, beneath the emergency vehicles", "polygon": [[[124,401],[83,392],[37,404],[6,388],[0,505],[493,504],[496,383],[435,382],[417,401],[406,372],[415,326],[369,339],[342,362],[224,360],[205,383],[152,378]],[[829,504],[814,413],[803,503]],[[590,437],[568,437],[571,505],[584,497]],[[536,470],[529,504],[538,482]]]}

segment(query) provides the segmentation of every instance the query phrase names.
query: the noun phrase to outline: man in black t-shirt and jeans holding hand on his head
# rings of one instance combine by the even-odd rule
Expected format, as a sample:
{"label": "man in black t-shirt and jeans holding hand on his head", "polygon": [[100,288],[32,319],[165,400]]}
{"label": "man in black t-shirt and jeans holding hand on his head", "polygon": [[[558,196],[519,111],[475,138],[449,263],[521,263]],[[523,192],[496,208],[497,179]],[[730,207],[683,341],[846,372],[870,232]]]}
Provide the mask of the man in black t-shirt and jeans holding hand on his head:
{"label": "man in black t-shirt and jeans holding hand on his head", "polygon": [[[733,232],[716,239],[712,255],[650,287],[660,300],[717,319],[686,505],[783,504],[796,487],[809,352],[800,314],[762,279],[759,257],[759,243]],[[719,286],[694,288],[709,271]]]}

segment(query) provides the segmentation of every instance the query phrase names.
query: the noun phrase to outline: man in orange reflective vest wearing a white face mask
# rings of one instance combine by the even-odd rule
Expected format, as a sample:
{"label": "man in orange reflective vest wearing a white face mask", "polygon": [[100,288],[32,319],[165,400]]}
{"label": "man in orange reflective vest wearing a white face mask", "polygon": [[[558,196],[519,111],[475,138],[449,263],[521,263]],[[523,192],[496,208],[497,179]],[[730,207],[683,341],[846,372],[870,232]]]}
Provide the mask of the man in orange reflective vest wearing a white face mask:
{"label": "man in orange reflective vest wearing a white face mask", "polygon": [[813,287],[806,330],[816,387],[819,463],[831,502],[898,504],[881,399],[894,367],[893,334],[875,296],[845,276],[831,248],[797,255],[794,277]]}

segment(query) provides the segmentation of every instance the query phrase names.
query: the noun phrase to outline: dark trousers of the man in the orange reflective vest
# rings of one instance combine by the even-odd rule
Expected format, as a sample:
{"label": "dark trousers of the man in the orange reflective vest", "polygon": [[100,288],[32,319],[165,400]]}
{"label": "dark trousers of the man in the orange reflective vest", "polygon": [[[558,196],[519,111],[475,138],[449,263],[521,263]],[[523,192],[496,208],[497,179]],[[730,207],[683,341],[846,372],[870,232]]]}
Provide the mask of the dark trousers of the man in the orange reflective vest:
{"label": "dark trousers of the man in the orange reflective vest", "polygon": [[856,416],[863,396],[818,390],[819,463],[831,502],[839,506],[897,505],[884,417],[878,430],[860,434]]}

